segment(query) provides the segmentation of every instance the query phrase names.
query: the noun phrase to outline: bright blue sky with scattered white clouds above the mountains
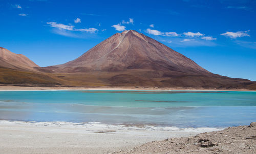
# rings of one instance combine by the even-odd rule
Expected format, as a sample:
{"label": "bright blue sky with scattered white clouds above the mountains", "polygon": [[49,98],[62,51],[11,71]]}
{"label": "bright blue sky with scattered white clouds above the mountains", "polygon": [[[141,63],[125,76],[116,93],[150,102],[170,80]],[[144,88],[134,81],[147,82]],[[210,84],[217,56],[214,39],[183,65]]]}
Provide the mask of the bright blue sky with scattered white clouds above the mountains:
{"label": "bright blue sky with scattered white clouds above the mountains", "polygon": [[0,47],[46,67],[133,29],[212,73],[255,81],[255,9],[253,0],[1,0]]}

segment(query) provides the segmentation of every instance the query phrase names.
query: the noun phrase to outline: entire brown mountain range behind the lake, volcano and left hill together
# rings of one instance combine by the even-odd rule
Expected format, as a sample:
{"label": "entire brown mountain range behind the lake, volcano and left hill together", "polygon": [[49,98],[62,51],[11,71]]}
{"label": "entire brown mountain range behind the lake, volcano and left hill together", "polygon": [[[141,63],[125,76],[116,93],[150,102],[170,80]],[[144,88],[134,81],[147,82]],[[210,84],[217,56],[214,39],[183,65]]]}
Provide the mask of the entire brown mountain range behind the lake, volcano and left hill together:
{"label": "entire brown mountain range behind the lake, volcano and left hill together", "polygon": [[256,89],[255,82],[211,73],[134,30],[114,34],[75,60],[45,68],[5,48],[0,56],[2,85]]}

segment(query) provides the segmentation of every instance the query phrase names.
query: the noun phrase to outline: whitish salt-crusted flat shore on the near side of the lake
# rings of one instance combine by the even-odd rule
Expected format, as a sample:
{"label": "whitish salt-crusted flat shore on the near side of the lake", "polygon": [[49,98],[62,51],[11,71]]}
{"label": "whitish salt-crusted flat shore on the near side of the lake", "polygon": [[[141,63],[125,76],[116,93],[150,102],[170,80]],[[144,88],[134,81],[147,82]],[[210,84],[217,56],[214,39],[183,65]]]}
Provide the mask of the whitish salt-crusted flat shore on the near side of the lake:
{"label": "whitish salt-crusted flat shore on the near side of the lake", "polygon": [[0,153],[107,153],[220,129],[0,120]]}

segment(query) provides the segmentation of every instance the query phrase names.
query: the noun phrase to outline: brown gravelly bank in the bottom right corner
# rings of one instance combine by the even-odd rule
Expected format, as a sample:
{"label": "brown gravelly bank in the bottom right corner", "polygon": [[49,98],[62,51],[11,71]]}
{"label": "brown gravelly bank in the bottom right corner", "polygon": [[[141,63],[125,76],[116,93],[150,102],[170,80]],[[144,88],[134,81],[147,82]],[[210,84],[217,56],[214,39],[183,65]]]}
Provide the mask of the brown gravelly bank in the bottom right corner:
{"label": "brown gravelly bank in the bottom right corner", "polygon": [[256,153],[256,122],[194,137],[153,141],[113,153]]}

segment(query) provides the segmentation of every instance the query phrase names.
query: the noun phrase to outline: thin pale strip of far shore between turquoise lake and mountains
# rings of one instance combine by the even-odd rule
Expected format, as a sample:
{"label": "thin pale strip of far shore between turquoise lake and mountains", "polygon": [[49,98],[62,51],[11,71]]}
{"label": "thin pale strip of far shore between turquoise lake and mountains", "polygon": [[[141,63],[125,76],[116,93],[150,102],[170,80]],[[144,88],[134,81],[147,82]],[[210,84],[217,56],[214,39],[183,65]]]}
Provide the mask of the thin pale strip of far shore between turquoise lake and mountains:
{"label": "thin pale strip of far shore between turquoise lake and mountains", "polygon": [[9,86],[0,85],[0,91],[57,91],[57,90],[126,90],[126,91],[255,91],[248,89],[204,89],[204,88],[184,88],[184,87],[138,87],[138,86],[120,86],[120,87],[41,87],[41,86]]}

